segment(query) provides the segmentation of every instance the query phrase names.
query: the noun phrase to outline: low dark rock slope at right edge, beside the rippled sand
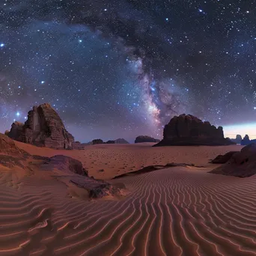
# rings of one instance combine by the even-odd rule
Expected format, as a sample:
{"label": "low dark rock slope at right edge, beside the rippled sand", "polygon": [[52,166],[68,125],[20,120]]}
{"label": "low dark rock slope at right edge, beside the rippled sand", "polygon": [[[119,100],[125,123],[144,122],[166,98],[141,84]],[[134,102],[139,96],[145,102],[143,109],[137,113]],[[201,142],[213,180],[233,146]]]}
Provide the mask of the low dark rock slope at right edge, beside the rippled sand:
{"label": "low dark rock slope at right edge, beside the rippled sand", "polygon": [[243,147],[240,152],[234,153],[227,163],[213,169],[210,173],[236,177],[249,177],[256,174],[256,144]]}

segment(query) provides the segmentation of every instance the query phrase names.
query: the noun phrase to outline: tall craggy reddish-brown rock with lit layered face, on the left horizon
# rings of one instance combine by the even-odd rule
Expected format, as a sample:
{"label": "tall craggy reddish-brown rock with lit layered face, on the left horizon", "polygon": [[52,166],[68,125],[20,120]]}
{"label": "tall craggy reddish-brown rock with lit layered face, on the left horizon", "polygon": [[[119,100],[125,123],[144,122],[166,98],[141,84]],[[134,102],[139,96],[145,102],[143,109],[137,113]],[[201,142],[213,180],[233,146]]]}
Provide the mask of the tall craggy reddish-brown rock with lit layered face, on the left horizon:
{"label": "tall craggy reddish-brown rock with lit layered face, on the left horizon", "polygon": [[10,138],[40,147],[72,149],[74,137],[65,129],[61,118],[48,103],[34,106],[25,124],[12,124]]}

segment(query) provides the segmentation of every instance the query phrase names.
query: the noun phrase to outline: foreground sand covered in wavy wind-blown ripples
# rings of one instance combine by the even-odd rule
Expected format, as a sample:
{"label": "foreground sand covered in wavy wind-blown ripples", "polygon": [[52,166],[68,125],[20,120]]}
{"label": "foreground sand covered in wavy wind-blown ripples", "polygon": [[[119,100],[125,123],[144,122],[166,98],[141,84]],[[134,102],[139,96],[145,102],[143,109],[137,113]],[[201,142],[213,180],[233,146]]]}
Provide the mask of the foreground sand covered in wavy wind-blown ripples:
{"label": "foreground sand covered in wavy wind-blown ripples", "polygon": [[121,201],[0,182],[0,255],[256,255],[256,177],[162,169],[114,180],[132,192]]}

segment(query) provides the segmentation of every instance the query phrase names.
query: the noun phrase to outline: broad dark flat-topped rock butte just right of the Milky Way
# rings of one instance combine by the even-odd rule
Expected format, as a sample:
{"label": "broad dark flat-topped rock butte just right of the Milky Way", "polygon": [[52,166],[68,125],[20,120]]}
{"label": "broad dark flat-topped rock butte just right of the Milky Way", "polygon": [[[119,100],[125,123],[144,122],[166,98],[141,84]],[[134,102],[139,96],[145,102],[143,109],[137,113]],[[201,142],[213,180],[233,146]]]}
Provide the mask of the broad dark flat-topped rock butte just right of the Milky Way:
{"label": "broad dark flat-topped rock butte just right of the Milky Way", "polygon": [[169,145],[228,145],[234,144],[224,138],[222,127],[216,128],[208,121],[201,121],[193,115],[171,118],[163,130],[163,139],[154,146]]}

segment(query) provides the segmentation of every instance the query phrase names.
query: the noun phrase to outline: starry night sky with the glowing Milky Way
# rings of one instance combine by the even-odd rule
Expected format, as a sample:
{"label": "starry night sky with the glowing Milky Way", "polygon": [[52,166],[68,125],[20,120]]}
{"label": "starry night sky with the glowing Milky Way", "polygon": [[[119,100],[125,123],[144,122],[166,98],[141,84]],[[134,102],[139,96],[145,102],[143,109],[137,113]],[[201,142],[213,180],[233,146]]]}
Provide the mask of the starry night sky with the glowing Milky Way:
{"label": "starry night sky with the glowing Milky Way", "polygon": [[79,141],[255,123],[255,49],[254,1],[0,0],[0,131],[40,103]]}

